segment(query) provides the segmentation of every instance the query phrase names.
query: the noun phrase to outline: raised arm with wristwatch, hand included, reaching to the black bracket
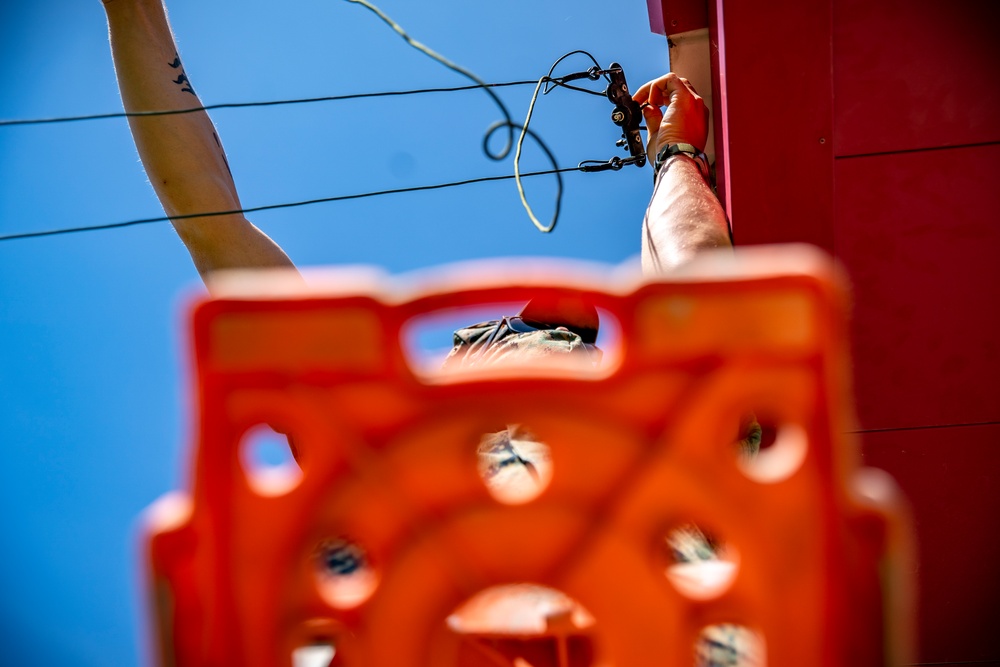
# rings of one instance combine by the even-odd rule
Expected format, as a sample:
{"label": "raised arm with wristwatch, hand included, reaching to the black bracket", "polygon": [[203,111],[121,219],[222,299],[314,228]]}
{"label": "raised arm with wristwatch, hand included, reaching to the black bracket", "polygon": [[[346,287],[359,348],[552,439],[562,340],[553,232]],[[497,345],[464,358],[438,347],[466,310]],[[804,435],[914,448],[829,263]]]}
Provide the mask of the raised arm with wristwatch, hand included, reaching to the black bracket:
{"label": "raised arm with wristwatch, hand included, reaching to the black bracket", "polygon": [[[691,144],[699,151],[708,139],[708,110],[691,85],[666,74],[634,96],[643,107],[649,134],[647,154],[670,144]],[[660,107],[666,107],[666,112]],[[642,229],[642,268],[656,273],[677,267],[703,251],[729,248],[729,225],[722,205],[687,155],[668,157],[659,169]]]}

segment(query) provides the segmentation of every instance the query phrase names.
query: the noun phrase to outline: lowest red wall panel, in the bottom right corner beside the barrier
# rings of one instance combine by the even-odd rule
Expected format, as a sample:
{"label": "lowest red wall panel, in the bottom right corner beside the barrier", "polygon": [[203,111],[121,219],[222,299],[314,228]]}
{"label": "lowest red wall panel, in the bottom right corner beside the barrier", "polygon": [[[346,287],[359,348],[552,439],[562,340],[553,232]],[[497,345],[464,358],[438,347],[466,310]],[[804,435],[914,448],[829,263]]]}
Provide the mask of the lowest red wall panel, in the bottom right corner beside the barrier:
{"label": "lowest red wall panel, in the bottom right corner beside the barrier", "polygon": [[919,553],[919,662],[1000,660],[1000,425],[868,433],[865,464],[910,500]]}

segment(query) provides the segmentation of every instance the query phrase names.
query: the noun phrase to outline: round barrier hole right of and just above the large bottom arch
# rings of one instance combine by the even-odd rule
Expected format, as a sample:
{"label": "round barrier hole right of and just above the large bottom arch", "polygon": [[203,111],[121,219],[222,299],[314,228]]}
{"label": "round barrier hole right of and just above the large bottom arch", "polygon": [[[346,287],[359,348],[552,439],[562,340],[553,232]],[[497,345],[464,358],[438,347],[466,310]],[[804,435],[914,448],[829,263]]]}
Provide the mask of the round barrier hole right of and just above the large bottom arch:
{"label": "round barrier hole right of and just above the large bottom arch", "polygon": [[736,579],[739,570],[736,549],[694,525],[670,530],[663,547],[667,579],[691,599],[716,598]]}

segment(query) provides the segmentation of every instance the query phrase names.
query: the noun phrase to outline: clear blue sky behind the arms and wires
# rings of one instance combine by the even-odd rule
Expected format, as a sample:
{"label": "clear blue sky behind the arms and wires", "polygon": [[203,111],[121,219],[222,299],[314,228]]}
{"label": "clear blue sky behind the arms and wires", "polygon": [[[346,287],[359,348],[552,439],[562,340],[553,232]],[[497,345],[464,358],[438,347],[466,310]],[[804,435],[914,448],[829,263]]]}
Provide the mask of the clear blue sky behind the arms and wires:
{"label": "clear blue sky behind the arms and wires", "polygon": [[[560,55],[620,62],[635,89],[666,70],[642,0],[383,0],[416,39],[490,82]],[[173,0],[206,104],[464,85],[340,0]],[[0,3],[0,118],[120,110],[98,0]],[[586,69],[583,59],[565,70]],[[500,94],[515,118],[530,87]],[[532,128],[561,166],[618,155],[610,103],[543,98]],[[482,91],[213,114],[245,206],[512,173],[488,160]],[[545,169],[537,151],[525,170]],[[511,182],[259,213],[301,266],[392,273],[484,257],[634,258],[649,168],[569,174],[559,227],[536,231]],[[551,177],[526,189],[551,214]],[[162,213],[123,119],[0,127],[0,234]],[[126,665],[145,624],[136,518],[181,479],[190,426],[185,311],[201,290],[165,223],[0,242],[0,647],[8,664]]]}

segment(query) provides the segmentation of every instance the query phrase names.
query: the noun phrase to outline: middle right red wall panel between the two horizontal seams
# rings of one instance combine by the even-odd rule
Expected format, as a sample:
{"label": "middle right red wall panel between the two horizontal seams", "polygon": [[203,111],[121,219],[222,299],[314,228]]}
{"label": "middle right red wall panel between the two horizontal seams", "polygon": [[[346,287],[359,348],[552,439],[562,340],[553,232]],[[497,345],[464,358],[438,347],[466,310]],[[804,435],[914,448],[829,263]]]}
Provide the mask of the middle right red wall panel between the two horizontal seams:
{"label": "middle right red wall panel between the two horizontal seams", "polygon": [[1000,144],[836,162],[865,428],[1000,419]]}

